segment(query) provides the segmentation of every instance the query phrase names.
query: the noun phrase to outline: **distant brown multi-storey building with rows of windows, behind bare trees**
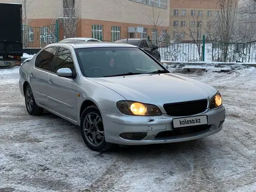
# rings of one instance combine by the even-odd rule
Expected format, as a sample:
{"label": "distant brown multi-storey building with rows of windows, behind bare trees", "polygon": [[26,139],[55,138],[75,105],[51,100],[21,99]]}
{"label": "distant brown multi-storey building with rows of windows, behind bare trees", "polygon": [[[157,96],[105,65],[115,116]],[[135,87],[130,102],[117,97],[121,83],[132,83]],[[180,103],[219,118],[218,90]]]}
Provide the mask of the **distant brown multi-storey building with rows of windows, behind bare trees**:
{"label": "distant brown multi-storey building with rows of windows, behind bare trees", "polygon": [[170,0],[171,24],[168,33],[173,40],[202,40],[217,22],[217,0]]}

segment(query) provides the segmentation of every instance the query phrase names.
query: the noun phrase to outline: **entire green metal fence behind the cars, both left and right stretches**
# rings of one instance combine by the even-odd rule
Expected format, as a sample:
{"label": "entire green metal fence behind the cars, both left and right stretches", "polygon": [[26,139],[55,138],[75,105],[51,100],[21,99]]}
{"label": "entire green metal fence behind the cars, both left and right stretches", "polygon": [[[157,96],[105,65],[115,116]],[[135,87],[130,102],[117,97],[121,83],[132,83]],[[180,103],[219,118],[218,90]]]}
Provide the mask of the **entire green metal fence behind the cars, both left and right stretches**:
{"label": "entire green metal fence behind the cars, both left and right stretches", "polygon": [[[58,23],[43,27],[23,25],[24,48],[42,48],[61,40]],[[203,40],[179,43],[158,41],[157,46],[163,61],[256,62],[256,41],[246,43]]]}

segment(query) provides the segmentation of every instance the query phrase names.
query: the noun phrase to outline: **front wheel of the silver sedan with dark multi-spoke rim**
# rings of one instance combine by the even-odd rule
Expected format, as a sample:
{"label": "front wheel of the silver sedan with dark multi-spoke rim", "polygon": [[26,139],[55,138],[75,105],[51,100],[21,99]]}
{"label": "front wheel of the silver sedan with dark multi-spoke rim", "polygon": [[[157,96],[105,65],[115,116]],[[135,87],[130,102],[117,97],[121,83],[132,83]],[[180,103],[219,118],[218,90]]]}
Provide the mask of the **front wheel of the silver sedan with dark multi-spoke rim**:
{"label": "front wheel of the silver sedan with dark multi-spoke rim", "polygon": [[112,144],[105,141],[102,116],[97,106],[91,105],[84,110],[81,115],[80,129],[84,143],[91,150],[104,152],[111,149]]}

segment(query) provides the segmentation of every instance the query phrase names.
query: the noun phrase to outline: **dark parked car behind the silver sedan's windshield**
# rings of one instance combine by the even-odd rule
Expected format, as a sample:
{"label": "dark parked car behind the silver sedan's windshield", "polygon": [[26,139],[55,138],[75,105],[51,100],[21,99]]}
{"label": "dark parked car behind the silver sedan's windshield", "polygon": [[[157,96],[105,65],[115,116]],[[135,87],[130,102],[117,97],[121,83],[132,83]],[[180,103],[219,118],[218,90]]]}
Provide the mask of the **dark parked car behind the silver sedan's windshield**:
{"label": "dark parked car behind the silver sedan's windshield", "polygon": [[128,39],[120,39],[116,40],[115,42],[122,42],[131,45],[135,45],[147,51],[148,54],[154,56],[159,62],[161,62],[161,55],[160,52],[157,50],[158,47],[155,47],[150,41],[145,38],[128,38]]}

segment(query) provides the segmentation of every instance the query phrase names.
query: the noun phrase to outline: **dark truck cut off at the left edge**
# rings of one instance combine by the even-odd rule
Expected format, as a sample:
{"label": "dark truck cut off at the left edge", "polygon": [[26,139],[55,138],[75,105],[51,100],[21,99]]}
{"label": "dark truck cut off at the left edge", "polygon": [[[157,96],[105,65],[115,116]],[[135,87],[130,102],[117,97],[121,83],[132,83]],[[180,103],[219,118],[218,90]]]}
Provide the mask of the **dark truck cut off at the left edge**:
{"label": "dark truck cut off at the left edge", "polygon": [[0,3],[0,68],[20,66],[23,55],[22,4]]}

